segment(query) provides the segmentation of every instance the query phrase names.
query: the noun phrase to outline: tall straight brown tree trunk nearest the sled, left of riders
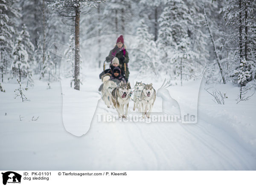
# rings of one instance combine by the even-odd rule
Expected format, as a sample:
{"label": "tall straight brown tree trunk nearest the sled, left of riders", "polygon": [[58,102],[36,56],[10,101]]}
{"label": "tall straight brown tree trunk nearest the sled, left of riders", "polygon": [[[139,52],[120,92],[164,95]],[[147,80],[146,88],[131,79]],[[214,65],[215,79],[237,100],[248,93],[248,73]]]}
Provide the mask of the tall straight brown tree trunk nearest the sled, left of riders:
{"label": "tall straight brown tree trunk nearest the sled, left of riders", "polygon": [[80,90],[79,68],[80,68],[80,46],[79,46],[80,7],[76,7],[75,19],[75,89]]}

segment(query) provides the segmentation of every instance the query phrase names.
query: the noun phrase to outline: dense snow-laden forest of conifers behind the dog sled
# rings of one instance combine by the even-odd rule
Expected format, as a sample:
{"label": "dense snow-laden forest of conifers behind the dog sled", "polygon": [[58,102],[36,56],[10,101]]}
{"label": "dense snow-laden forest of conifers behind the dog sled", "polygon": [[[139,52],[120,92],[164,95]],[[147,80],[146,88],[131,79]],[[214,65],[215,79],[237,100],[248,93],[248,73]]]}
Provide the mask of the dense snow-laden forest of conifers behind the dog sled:
{"label": "dense snow-laden forest of conifers behind the dog sled", "polygon": [[[209,84],[244,86],[256,78],[253,0],[0,0],[0,82],[19,78],[32,86],[35,78],[57,80],[61,57],[52,49],[58,44],[67,46],[65,76],[76,81],[76,61],[102,67],[116,42],[109,38],[105,46],[100,36],[108,34],[134,35],[126,43],[129,65],[141,73],[151,61],[173,80],[197,78],[199,66],[206,68]],[[140,45],[147,52],[136,50]]]}

